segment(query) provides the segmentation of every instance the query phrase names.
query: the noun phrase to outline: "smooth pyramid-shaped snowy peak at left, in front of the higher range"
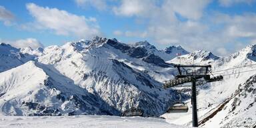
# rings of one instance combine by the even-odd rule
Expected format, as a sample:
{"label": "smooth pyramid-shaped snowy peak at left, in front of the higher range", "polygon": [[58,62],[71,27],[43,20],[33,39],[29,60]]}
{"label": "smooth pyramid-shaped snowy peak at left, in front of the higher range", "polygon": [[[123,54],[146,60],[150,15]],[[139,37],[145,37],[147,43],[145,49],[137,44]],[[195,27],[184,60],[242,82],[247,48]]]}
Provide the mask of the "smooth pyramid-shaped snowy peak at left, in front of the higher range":
{"label": "smooth pyramid-shaped snowy peak at left, in front of the higher range", "polygon": [[0,73],[0,77],[1,115],[118,113],[71,79],[33,61]]}

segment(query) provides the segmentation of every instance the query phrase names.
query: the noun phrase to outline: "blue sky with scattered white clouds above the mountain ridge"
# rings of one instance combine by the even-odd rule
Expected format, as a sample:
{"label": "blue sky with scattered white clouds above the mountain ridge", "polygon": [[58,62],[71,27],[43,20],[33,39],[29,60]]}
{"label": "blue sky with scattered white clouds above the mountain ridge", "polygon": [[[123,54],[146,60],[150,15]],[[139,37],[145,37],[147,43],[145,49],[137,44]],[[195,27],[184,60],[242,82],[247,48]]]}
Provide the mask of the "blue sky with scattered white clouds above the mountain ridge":
{"label": "blue sky with scattered white clouds above the mountain ridge", "polygon": [[0,42],[36,49],[96,35],[227,56],[256,43],[256,0],[0,0]]}

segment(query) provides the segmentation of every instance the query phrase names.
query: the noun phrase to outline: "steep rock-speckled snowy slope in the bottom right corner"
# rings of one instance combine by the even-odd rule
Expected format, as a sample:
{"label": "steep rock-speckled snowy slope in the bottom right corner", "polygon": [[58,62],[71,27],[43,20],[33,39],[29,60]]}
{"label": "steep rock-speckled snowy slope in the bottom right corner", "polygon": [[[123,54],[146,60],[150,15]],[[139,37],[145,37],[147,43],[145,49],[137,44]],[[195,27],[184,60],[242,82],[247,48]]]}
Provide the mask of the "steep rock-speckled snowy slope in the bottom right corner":
{"label": "steep rock-speckled snowy slope in the bottom right corner", "polygon": [[255,127],[256,126],[256,75],[250,77],[230,97],[229,101],[204,127]]}

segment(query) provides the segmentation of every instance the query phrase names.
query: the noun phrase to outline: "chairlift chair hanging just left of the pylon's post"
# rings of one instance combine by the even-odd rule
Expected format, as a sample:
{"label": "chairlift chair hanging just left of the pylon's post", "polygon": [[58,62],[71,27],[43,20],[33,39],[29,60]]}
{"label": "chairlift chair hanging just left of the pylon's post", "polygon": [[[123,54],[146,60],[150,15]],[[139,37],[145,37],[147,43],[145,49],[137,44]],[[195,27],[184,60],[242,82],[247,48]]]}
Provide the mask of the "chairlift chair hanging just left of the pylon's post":
{"label": "chairlift chair hanging just left of the pylon's post", "polygon": [[169,109],[167,109],[167,113],[187,113],[189,107],[185,103],[175,103]]}

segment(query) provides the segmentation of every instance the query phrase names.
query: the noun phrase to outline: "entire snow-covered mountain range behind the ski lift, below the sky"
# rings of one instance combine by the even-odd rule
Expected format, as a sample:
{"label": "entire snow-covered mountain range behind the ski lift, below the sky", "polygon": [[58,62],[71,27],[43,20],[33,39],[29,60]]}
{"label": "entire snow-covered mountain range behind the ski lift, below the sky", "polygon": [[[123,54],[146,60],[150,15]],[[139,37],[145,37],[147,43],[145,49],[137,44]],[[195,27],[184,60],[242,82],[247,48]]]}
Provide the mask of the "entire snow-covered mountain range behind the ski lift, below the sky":
{"label": "entire snow-covered mountain range behind the ski lift, below the sky", "polygon": [[[0,55],[1,115],[120,115],[136,107],[144,116],[159,116],[179,99],[177,89],[191,107],[189,88],[161,86],[177,75],[173,64],[195,63],[210,64],[213,75],[224,75],[224,81],[198,87],[201,126],[256,125],[256,73],[251,71],[256,67],[256,45],[217,57],[202,50],[188,53],[181,46],[158,50],[147,41],[125,44],[94,37],[44,49],[1,43]],[[163,117],[191,125],[191,109]]]}

